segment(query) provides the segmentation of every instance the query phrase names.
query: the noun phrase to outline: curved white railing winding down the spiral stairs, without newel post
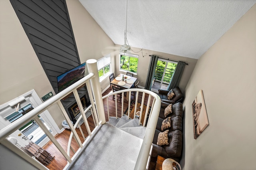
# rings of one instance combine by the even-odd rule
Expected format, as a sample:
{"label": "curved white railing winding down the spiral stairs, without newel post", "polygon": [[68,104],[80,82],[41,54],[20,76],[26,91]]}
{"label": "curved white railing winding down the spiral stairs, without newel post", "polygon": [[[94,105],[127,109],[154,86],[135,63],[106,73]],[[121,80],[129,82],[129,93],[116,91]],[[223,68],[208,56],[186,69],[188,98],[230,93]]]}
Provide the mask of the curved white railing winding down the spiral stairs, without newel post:
{"label": "curved white railing winding down the spiral stairs, without newel post", "polygon": [[[148,113],[149,107],[151,106],[150,114],[149,114],[149,117],[148,117],[148,123],[147,123],[147,126],[146,126],[146,132],[145,132],[143,142],[142,142],[142,147],[141,147],[140,152],[139,152],[139,156],[138,156],[138,159],[137,159],[137,162],[136,162],[136,166],[134,167],[134,169],[141,170],[141,169],[146,169],[146,166],[147,166],[147,163],[148,163],[148,156],[150,154],[150,149],[151,149],[151,146],[152,146],[152,141],[153,141],[153,137],[154,137],[156,123],[157,123],[158,115],[159,115],[159,111],[160,111],[161,99],[159,98],[159,96],[156,93],[154,93],[152,91],[145,90],[145,89],[124,89],[124,90],[116,91],[116,92],[110,93],[108,95],[105,95],[104,97],[102,97],[102,99],[103,100],[106,99],[106,102],[107,102],[106,110],[107,110],[107,114],[108,114],[108,118],[109,118],[110,117],[109,116],[109,105],[108,105],[109,97],[112,96],[112,95],[117,95],[118,93],[122,93],[121,115],[120,115],[120,117],[122,117],[122,115],[124,114],[124,100],[126,100],[125,96],[124,96],[124,93],[126,93],[126,95],[129,95],[128,109],[127,109],[128,118],[129,118],[130,117],[130,107],[131,107],[131,105],[130,105],[130,103],[131,103],[131,93],[132,92],[136,92],[136,98],[135,98],[135,101],[134,101],[135,102],[135,106],[134,106],[135,111],[137,110],[136,107],[137,107],[137,103],[138,103],[138,94],[139,94],[139,92],[142,93],[141,103],[144,103],[145,96],[148,95],[148,101],[147,101],[147,104],[146,104],[146,108],[144,108],[144,105],[141,105],[140,112],[142,113],[143,109],[146,109],[146,113]],[[116,98],[116,96],[115,96],[115,98]],[[151,100],[152,98],[153,98],[153,101]],[[110,99],[112,100],[112,97],[110,97]],[[118,118],[117,101],[118,100],[115,100],[116,118]],[[90,105],[85,110],[85,112],[87,112],[89,109],[91,109],[91,107],[92,107],[92,105]],[[93,117],[96,117],[96,115],[94,115],[94,113],[92,113],[92,115],[93,115]],[[135,115],[136,114],[134,113],[134,118],[135,118]],[[78,118],[76,124],[74,125],[74,128],[79,127],[78,122],[81,119],[82,119],[82,115]],[[144,123],[142,125],[143,127],[145,127],[146,119],[147,119],[147,116],[144,117]],[[140,124],[140,122],[141,122],[141,117],[139,117],[139,124]],[[80,131],[81,131],[82,134],[84,133],[81,128],[80,128]],[[93,131],[92,131],[92,134],[93,134]],[[74,152],[74,150],[71,147],[72,138],[73,138],[73,133],[71,132],[70,133],[70,138],[69,138],[69,141],[68,141],[68,150],[67,150],[68,155],[70,154],[70,150],[72,150],[72,152]],[[84,141],[83,145],[86,144],[86,141],[89,138],[90,138],[90,136],[87,136],[86,138],[84,138],[85,141]],[[76,153],[78,153],[78,151]],[[73,158],[75,156],[76,156],[76,154],[73,156]],[[73,158],[72,158],[72,160],[73,160]]]}

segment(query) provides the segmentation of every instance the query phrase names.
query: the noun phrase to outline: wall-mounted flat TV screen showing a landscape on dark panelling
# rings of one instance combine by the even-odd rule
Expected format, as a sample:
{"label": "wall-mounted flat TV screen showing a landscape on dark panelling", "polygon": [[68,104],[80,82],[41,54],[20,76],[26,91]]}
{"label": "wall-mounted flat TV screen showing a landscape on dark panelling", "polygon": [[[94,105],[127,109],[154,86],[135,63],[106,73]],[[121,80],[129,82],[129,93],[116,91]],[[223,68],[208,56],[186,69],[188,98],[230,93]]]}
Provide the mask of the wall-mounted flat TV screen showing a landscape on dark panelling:
{"label": "wall-mounted flat TV screen showing a landscape on dark panelling", "polygon": [[68,86],[72,85],[76,81],[82,79],[85,73],[85,63],[78,65],[77,67],[62,73],[57,77],[58,91],[66,89]]}

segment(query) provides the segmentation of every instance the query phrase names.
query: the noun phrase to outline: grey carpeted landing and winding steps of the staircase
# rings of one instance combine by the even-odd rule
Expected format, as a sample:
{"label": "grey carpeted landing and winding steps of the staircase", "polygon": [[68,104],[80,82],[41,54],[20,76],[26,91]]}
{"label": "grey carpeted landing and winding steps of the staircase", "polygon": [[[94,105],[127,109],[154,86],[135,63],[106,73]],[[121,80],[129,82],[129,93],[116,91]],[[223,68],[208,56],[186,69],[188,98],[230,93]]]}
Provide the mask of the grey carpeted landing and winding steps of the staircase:
{"label": "grey carpeted landing and winding steps of the staircase", "polygon": [[89,138],[67,169],[133,170],[146,127],[139,119],[110,117]]}

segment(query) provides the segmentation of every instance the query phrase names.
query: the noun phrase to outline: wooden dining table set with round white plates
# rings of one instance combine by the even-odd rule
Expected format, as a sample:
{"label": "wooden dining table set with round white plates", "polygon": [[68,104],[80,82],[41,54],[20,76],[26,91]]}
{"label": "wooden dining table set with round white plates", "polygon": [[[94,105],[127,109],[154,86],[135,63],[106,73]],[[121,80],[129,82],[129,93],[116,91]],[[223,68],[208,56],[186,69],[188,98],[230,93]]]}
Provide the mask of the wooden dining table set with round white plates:
{"label": "wooden dining table set with round white plates", "polygon": [[[124,79],[124,81],[122,80],[123,76],[127,77],[127,79]],[[120,73],[114,80],[110,82],[110,85],[118,86],[120,89],[130,89],[136,80],[136,77]],[[129,95],[126,95],[126,100],[129,100]]]}

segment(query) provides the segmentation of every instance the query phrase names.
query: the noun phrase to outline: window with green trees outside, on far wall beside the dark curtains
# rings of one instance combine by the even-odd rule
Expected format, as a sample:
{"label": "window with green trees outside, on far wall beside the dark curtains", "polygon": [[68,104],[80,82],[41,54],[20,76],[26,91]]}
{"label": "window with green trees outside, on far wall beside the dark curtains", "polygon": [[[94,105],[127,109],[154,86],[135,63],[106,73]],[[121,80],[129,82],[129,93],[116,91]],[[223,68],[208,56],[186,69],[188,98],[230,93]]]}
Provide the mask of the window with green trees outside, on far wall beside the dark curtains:
{"label": "window with green trees outside, on far wall beside the dark curtains", "polygon": [[138,55],[120,53],[120,70],[137,73]]}

